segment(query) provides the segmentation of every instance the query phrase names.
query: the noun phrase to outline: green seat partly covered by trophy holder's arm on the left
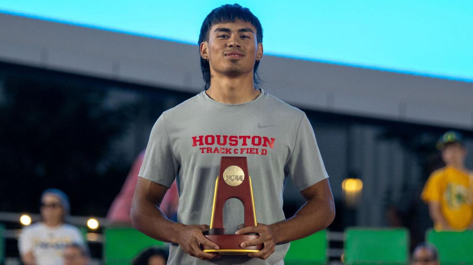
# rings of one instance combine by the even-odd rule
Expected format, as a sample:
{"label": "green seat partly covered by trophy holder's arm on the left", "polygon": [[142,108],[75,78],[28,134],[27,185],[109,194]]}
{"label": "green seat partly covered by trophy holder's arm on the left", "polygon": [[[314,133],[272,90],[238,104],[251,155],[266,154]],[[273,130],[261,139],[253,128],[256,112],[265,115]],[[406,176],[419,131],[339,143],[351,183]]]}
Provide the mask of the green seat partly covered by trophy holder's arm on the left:
{"label": "green seat partly covered by trophy holder's arm on the left", "polygon": [[163,242],[150,238],[131,227],[105,230],[104,258],[106,265],[129,265],[143,249],[163,246]]}

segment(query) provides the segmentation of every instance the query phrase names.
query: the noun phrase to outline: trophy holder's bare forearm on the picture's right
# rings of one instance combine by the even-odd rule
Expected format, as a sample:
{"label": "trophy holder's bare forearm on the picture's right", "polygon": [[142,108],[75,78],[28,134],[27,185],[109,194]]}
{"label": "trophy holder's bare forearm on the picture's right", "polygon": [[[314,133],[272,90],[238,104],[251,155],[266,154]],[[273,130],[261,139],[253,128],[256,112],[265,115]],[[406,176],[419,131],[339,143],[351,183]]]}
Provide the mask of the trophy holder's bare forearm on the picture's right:
{"label": "trophy holder's bare forearm on the picture's right", "polygon": [[333,199],[311,198],[289,219],[270,225],[277,243],[307,237],[329,226],[335,217]]}

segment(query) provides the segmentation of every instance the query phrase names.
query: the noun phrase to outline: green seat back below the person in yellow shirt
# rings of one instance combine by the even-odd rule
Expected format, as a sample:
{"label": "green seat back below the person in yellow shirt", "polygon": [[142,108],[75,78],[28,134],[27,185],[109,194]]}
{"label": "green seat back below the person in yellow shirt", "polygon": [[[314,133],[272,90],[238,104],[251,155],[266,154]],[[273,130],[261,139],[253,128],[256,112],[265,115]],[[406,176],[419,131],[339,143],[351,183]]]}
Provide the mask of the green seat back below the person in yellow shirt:
{"label": "green seat back below the person in yellow shirt", "polygon": [[438,249],[440,264],[473,265],[473,231],[437,232],[429,230],[426,240]]}

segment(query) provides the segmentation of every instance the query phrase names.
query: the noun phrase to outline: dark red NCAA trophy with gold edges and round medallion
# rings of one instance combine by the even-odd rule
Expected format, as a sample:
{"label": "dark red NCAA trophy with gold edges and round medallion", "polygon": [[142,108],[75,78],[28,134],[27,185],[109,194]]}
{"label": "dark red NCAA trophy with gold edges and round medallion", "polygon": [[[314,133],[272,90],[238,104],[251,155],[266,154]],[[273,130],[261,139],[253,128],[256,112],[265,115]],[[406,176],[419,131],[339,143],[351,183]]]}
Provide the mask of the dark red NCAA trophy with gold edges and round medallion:
{"label": "dark red NCAA trophy with gold edges and round medallion", "polygon": [[246,248],[240,247],[242,242],[258,238],[258,234],[224,234],[223,206],[230,198],[239,199],[243,203],[244,226],[257,225],[253,188],[248,174],[246,157],[222,157],[220,160],[219,176],[215,182],[210,229],[209,233],[205,235],[219,246],[219,250],[203,246],[203,251],[218,252],[223,255],[245,255],[250,252],[258,252],[261,250],[262,244]]}

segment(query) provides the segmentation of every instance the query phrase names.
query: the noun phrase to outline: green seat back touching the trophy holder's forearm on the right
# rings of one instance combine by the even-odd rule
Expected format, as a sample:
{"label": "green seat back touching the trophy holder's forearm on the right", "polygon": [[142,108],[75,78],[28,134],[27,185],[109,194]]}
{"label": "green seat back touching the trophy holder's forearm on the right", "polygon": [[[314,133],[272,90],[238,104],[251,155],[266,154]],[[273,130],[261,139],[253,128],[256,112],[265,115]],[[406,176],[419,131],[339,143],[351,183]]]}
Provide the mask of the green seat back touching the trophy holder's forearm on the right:
{"label": "green seat back touching the trophy holder's forearm on the right", "polygon": [[308,237],[291,242],[284,258],[287,265],[327,263],[327,232],[316,232]]}

